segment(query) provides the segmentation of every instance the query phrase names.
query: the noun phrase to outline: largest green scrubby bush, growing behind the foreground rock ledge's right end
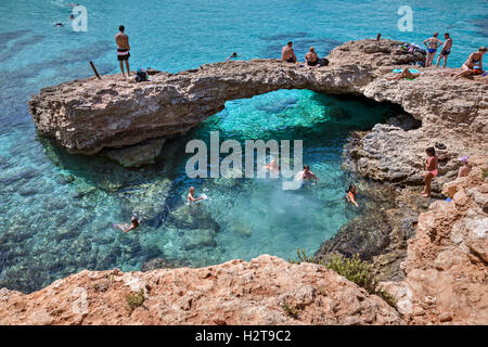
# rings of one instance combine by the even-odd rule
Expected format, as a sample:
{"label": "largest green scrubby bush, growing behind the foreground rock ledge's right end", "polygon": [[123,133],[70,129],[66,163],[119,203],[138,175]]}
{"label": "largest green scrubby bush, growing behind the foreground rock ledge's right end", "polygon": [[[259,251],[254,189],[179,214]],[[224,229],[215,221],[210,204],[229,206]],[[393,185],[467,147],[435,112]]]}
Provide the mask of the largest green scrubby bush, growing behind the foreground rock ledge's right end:
{"label": "largest green scrubby bush, growing behind the foreground rock ledge's right end", "polygon": [[296,254],[298,260],[288,260],[290,262],[312,262],[324,266],[325,268],[334,270],[338,274],[345,277],[349,281],[364,288],[369,294],[375,294],[380,296],[386,303],[388,303],[388,305],[395,308],[395,298],[378,285],[380,281],[374,275],[371,264],[365,260],[361,260],[359,255],[355,255],[351,258],[346,258],[344,256],[333,256],[330,260],[317,261],[313,259],[313,257],[307,256],[305,249],[297,249]]}

